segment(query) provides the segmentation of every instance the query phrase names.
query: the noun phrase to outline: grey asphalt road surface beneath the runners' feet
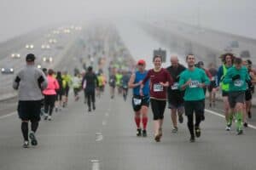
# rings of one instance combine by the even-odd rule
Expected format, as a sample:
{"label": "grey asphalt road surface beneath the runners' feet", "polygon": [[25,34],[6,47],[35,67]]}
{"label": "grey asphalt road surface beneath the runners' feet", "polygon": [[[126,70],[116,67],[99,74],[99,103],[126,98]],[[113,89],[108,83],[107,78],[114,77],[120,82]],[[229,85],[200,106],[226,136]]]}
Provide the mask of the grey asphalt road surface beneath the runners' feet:
{"label": "grey asphalt road surface beneath the runners' feet", "polygon": [[97,99],[96,111],[89,113],[83,99],[74,102],[72,98],[67,109],[54,114],[52,122],[40,122],[39,145],[30,149],[21,147],[16,114],[1,116],[0,169],[255,168],[255,129],[247,128],[244,135],[236,136],[235,130],[224,131],[224,118],[207,112],[201,138],[191,144],[186,123],[178,125],[177,134],[172,133],[170,111],[166,110],[164,137],[155,143],[151,111],[148,138],[136,137],[130,100],[125,102],[121,96],[111,100],[107,89]]}

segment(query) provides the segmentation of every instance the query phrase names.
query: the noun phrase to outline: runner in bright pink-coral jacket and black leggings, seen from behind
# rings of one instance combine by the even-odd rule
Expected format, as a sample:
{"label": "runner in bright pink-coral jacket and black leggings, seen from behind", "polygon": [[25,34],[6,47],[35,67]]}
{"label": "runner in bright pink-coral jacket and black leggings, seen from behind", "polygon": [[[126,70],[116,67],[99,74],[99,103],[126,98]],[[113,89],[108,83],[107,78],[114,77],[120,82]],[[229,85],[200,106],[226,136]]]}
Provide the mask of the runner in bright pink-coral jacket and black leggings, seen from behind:
{"label": "runner in bright pink-coral jacket and black leggings, seen from behind", "polygon": [[52,111],[55,107],[56,90],[60,88],[58,81],[53,77],[54,71],[49,69],[47,81],[48,86],[44,89],[44,120],[51,121]]}

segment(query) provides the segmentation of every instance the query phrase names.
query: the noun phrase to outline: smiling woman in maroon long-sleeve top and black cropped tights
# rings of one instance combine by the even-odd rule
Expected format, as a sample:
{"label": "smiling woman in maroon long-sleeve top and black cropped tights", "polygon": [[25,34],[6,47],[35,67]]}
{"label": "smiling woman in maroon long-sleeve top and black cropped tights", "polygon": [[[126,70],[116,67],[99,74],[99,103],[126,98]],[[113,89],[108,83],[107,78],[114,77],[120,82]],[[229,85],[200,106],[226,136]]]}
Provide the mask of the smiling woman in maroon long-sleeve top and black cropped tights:
{"label": "smiling woman in maroon long-sleeve top and black cropped tights", "polygon": [[170,73],[162,68],[162,58],[154,56],[154,69],[148,71],[141,85],[140,94],[143,95],[143,86],[150,79],[150,104],[154,114],[154,139],[160,142],[162,137],[162,125],[166,109],[167,88],[172,86],[173,81]]}

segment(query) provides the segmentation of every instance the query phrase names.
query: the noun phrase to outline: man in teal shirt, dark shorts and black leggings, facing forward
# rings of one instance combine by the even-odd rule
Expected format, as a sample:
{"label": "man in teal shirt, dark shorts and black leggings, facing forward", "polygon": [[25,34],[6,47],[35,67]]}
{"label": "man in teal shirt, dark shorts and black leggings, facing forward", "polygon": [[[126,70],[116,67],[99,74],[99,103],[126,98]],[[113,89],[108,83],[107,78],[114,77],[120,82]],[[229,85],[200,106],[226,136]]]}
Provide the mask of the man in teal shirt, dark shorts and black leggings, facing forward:
{"label": "man in teal shirt, dark shorts and black leggings, facing forward", "polygon": [[[203,88],[210,83],[205,71],[195,67],[195,56],[189,54],[186,57],[188,69],[180,76],[178,87],[185,91],[184,107],[185,115],[188,116],[188,127],[190,142],[195,142],[195,136],[201,136],[201,118],[204,114],[205,94]],[[194,132],[194,112],[195,112],[195,132]]]}

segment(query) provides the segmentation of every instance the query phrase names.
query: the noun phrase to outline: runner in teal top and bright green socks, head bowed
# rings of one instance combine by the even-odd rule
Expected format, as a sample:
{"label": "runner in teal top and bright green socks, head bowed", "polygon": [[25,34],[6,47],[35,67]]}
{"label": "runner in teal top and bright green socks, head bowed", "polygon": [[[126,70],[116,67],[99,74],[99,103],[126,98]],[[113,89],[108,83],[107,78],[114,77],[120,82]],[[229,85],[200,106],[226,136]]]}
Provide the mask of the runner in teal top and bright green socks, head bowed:
{"label": "runner in teal top and bright green socks, head bowed", "polygon": [[[231,67],[223,82],[229,83],[229,103],[231,113],[236,113],[236,131],[237,134],[242,133],[242,111],[243,105],[245,103],[245,91],[247,89],[247,81],[250,81],[250,76],[248,74],[247,68],[242,65],[242,60],[236,58],[234,61],[234,66]],[[230,122],[231,126],[231,122]]]}

